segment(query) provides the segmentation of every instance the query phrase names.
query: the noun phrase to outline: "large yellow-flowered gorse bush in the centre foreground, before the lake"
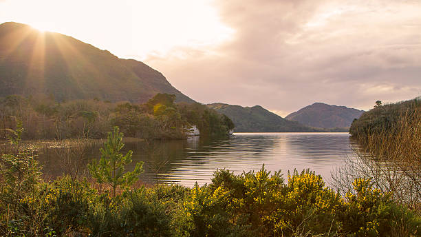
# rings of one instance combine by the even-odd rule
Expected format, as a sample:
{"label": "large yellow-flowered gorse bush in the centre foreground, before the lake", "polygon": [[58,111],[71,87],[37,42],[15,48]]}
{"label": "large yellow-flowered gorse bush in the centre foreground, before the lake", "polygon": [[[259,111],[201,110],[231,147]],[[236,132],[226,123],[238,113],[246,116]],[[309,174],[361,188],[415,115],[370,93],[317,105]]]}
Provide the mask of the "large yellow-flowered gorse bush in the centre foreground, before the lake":
{"label": "large yellow-flowered gorse bush in the centre foreground, before the lake", "polygon": [[324,187],[314,172],[294,172],[283,183],[264,167],[239,176],[219,170],[213,183],[193,187],[184,203],[189,234],[199,236],[290,236],[303,228],[312,234],[332,229],[340,196]]}

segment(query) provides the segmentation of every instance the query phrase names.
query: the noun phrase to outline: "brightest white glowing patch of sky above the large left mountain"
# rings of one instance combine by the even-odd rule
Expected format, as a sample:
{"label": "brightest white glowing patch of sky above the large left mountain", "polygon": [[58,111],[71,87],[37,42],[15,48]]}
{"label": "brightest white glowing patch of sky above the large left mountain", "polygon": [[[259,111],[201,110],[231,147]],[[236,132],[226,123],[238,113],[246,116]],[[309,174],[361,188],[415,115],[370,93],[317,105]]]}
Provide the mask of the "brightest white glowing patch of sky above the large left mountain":
{"label": "brightest white glowing patch of sky above the large left mountain", "polygon": [[[7,10],[17,8],[22,10]],[[220,21],[210,1],[6,0],[0,1],[0,15],[140,60],[179,48],[219,45],[234,33]]]}

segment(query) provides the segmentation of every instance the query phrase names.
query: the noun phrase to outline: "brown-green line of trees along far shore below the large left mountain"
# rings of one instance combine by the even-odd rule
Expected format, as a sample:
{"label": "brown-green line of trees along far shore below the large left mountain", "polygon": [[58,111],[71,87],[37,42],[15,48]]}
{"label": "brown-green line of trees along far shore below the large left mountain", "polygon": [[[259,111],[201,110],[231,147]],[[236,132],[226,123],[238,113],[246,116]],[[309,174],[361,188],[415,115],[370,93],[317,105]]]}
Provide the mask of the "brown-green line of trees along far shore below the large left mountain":
{"label": "brown-green line of trees along far shore below the large left mountain", "polygon": [[220,136],[234,127],[206,105],[174,101],[173,94],[156,94],[144,104],[6,96],[0,98],[0,137],[8,136],[6,128],[16,128],[15,118],[26,128],[23,139],[106,138],[114,126],[138,138],[184,138],[192,125],[202,136]]}

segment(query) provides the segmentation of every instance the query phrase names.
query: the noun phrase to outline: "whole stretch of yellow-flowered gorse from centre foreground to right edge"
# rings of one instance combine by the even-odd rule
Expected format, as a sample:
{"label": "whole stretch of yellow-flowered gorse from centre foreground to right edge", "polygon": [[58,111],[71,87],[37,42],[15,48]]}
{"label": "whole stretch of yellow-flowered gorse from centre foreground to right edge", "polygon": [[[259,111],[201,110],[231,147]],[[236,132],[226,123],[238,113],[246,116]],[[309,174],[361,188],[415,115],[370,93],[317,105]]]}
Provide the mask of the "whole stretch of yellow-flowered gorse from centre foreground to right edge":
{"label": "whole stretch of yellow-flowered gorse from centre foreground to right edge", "polygon": [[[416,236],[421,220],[356,179],[354,193],[341,197],[321,176],[305,170],[235,175],[218,170],[210,185],[195,185],[184,202],[184,236],[389,236],[401,228]],[[188,225],[190,223],[190,225]]]}

